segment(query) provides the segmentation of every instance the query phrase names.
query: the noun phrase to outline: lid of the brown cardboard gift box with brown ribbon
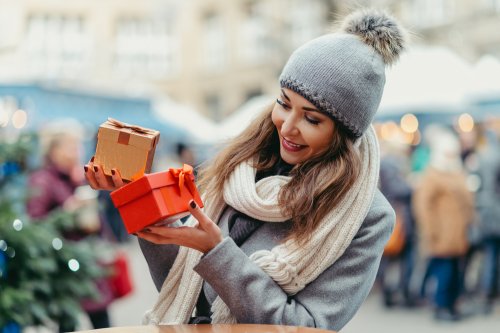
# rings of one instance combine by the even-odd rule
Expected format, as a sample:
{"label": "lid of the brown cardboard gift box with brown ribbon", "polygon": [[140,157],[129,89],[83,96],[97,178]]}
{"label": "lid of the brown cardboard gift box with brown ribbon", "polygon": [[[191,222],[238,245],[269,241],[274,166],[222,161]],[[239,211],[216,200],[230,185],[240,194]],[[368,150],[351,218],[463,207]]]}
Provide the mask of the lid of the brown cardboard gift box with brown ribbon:
{"label": "lid of the brown cardboard gift box with brown ribbon", "polygon": [[130,125],[112,118],[109,118],[99,126],[97,138],[99,140],[118,142],[120,133],[125,133],[128,135],[128,145],[139,147],[145,150],[151,150],[152,148],[154,148],[160,138],[159,131]]}

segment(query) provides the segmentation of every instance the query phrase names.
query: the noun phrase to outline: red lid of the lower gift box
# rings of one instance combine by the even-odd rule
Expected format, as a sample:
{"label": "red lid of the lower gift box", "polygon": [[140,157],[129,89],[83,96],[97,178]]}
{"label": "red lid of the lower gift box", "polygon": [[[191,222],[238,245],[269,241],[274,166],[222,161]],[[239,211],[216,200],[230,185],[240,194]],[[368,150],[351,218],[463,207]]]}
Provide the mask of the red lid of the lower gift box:
{"label": "red lid of the lower gift box", "polygon": [[[194,176],[192,174],[186,176],[189,177],[191,181],[194,181]],[[146,174],[118,190],[111,192],[111,200],[115,207],[118,208],[146,195],[154,189],[177,185],[178,182],[178,178],[174,177],[169,171]]]}

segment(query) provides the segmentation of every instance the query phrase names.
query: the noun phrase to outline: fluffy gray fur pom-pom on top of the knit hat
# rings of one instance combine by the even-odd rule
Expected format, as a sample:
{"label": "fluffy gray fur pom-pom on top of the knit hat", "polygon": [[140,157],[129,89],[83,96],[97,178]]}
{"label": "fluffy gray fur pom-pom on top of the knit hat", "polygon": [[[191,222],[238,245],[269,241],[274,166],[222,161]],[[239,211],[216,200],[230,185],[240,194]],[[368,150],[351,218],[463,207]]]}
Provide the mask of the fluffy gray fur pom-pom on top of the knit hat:
{"label": "fluffy gray fur pom-pom on top of the knit hat", "polygon": [[360,10],[347,16],[341,29],[357,35],[372,46],[387,65],[399,59],[406,44],[406,33],[396,20],[377,10]]}

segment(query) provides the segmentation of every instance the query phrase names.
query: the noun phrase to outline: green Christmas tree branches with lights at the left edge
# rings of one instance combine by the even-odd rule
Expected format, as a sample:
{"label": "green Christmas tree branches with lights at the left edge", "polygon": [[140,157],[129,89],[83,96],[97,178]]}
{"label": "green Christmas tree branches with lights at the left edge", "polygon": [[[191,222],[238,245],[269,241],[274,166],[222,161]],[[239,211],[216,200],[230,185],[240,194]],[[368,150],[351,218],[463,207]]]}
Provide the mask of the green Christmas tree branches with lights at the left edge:
{"label": "green Christmas tree branches with lights at the left edge", "polygon": [[[5,162],[23,164],[32,141],[0,142],[0,168]],[[106,272],[96,264],[98,253],[87,242],[62,236],[75,227],[72,214],[54,211],[44,220],[30,221],[19,207],[23,196],[11,189],[22,177],[0,175],[0,328],[9,322],[21,326],[71,325],[82,313],[80,300],[98,298],[93,283]],[[2,258],[0,258],[2,259]],[[1,261],[0,261],[1,263]],[[71,263],[71,265],[70,265]]]}

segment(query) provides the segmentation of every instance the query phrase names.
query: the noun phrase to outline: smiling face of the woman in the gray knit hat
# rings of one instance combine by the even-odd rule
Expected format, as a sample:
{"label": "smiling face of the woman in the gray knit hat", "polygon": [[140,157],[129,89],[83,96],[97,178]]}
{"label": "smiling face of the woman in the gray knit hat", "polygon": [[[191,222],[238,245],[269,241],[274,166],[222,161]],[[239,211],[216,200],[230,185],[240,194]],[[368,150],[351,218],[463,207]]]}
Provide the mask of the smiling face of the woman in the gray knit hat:
{"label": "smiling face of the woman in the gray knit hat", "polygon": [[289,89],[281,89],[272,120],[279,134],[281,158],[292,165],[325,152],[335,131],[330,117]]}

